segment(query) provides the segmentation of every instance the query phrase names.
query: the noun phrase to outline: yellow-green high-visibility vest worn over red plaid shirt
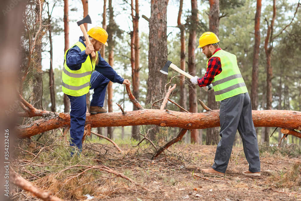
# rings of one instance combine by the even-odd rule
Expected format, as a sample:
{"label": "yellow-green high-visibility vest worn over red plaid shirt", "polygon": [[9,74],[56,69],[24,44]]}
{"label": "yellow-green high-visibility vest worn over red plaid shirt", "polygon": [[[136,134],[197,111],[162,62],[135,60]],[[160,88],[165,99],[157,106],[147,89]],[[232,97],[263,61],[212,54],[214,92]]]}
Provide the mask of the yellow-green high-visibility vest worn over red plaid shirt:
{"label": "yellow-green high-visibility vest worn over red plaid shirt", "polygon": [[247,93],[248,89],[237,66],[236,56],[224,50],[217,51],[213,56],[219,57],[222,64],[222,72],[212,80],[215,100],[221,101],[241,93]]}

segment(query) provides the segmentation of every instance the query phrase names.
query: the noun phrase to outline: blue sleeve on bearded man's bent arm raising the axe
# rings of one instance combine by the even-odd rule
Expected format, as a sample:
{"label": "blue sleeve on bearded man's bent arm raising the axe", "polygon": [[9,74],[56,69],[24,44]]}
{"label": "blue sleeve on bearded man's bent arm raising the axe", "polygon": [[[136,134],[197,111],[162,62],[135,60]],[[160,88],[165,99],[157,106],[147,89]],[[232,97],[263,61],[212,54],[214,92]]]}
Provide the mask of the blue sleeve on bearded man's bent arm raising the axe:
{"label": "blue sleeve on bearded man's bent arm raising the axe", "polygon": [[70,70],[77,71],[81,68],[82,63],[86,61],[87,57],[88,55],[86,55],[85,50],[80,51],[79,47],[74,46],[67,52],[66,64]]}

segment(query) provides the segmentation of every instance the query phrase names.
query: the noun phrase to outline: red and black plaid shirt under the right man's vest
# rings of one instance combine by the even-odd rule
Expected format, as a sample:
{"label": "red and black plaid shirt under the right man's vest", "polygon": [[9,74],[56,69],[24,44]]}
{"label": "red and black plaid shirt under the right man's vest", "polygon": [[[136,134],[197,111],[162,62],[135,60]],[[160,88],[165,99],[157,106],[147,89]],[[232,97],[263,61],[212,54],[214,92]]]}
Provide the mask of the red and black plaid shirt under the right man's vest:
{"label": "red and black plaid shirt under the right man's vest", "polygon": [[[213,52],[213,55],[219,50],[221,50],[221,48],[216,49],[216,51]],[[220,58],[213,57],[213,55],[209,58],[206,74],[202,78],[197,79],[200,87],[208,86],[209,84],[211,84],[213,78],[222,72],[222,64]]]}

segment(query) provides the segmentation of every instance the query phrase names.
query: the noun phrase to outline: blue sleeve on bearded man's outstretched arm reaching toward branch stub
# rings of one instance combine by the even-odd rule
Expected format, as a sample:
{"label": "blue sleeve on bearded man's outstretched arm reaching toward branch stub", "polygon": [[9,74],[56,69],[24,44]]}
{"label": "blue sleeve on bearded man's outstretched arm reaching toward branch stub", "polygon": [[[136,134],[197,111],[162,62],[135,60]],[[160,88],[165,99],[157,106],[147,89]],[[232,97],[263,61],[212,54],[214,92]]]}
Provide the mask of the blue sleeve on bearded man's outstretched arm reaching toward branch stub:
{"label": "blue sleeve on bearded man's outstretched arm reaching toward branch stub", "polygon": [[116,71],[108,64],[104,58],[101,57],[100,53],[98,52],[99,61],[98,64],[95,64],[95,71],[100,72],[105,77],[107,77],[111,82],[116,82],[119,84],[123,83],[123,78],[120,77]]}

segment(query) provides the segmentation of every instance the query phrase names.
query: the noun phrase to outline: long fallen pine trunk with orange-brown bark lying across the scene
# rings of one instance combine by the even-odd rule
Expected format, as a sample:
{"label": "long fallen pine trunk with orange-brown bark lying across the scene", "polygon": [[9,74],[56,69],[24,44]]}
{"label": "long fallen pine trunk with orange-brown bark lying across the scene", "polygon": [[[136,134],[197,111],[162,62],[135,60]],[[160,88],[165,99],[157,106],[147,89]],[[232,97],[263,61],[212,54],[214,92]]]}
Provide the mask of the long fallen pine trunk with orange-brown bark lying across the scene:
{"label": "long fallen pine trunk with orange-brown bark lying across the scene", "polygon": [[[17,127],[17,136],[31,137],[36,134],[70,127],[69,113],[51,113],[51,116]],[[301,127],[301,112],[288,110],[253,110],[255,127],[281,127],[289,130]],[[86,124],[91,127],[158,125],[180,127],[184,129],[204,129],[219,127],[219,110],[204,113],[183,113],[170,110],[140,109],[137,111],[112,112],[90,115],[87,113]]]}

